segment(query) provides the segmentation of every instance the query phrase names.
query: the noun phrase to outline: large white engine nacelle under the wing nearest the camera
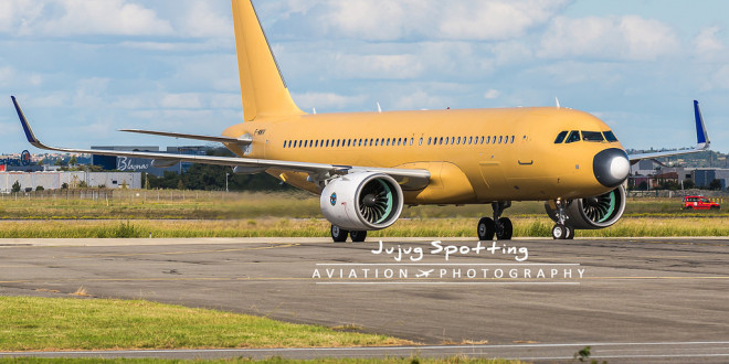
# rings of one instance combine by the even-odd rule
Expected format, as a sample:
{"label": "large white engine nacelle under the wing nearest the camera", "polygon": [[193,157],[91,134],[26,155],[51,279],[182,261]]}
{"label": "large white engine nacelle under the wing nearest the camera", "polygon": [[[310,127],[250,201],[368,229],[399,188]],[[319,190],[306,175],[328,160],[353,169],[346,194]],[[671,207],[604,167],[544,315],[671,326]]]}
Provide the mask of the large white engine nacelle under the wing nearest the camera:
{"label": "large white engine nacelle under the wing nearest the camera", "polygon": [[398,182],[376,172],[342,175],[324,188],[319,200],[324,216],[348,231],[378,231],[394,224],[402,203]]}

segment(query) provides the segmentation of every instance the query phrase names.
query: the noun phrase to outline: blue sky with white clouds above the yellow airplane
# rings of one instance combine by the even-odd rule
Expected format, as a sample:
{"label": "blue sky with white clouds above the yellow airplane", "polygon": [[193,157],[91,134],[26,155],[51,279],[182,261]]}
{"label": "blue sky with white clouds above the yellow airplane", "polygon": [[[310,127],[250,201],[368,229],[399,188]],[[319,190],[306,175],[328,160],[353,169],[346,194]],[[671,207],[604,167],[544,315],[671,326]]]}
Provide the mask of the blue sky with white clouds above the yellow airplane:
{"label": "blue sky with white clouds above the yellow airplane", "polygon": [[[696,143],[698,99],[729,152],[729,1],[254,0],[298,106],[338,111],[554,106],[625,148]],[[1,0],[0,153],[178,146],[124,128],[241,122],[225,0]],[[4,101],[3,101],[4,98]]]}

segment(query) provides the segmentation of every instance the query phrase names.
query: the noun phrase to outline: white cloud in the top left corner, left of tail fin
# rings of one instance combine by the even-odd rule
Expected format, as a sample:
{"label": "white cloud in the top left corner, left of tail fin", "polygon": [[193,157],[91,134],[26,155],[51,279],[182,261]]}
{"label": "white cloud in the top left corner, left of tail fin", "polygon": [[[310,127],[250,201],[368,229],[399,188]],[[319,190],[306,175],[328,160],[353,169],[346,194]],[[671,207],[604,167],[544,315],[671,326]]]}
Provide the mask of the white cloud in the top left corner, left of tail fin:
{"label": "white cloud in the top left corner, left of tail fin", "polygon": [[167,35],[170,23],[127,0],[4,0],[0,31],[23,36]]}

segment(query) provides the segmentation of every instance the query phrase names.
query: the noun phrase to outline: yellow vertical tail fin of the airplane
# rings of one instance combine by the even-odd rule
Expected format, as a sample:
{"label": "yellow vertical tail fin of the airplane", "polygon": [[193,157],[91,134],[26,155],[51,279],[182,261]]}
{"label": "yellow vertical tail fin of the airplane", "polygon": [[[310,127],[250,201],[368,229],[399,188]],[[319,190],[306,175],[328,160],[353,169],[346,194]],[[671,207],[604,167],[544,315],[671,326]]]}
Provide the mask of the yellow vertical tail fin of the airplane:
{"label": "yellow vertical tail fin of the airplane", "polygon": [[288,93],[253,3],[231,1],[245,121],[304,114]]}

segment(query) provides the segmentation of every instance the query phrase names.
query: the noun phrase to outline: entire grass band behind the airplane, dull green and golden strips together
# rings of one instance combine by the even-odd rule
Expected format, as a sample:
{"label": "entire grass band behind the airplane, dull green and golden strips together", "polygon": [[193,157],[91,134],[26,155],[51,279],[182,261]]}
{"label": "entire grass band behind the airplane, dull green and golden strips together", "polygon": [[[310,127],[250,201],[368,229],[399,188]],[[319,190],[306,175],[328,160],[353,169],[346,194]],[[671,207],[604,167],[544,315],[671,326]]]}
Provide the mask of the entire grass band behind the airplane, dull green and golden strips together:
{"label": "entire grass band behind the airplane, dull green and golden strips together", "polygon": [[[159,197],[158,197],[159,196]],[[728,199],[729,202],[729,199]],[[404,208],[392,227],[370,237],[475,237],[476,220],[488,205]],[[517,202],[506,215],[515,236],[549,237],[553,223],[541,202]],[[624,217],[578,236],[729,236],[729,213],[684,211],[680,199],[628,199]],[[0,200],[0,238],[108,237],[326,237],[319,200],[306,192],[224,193],[115,191],[112,201],[63,199]]]}

